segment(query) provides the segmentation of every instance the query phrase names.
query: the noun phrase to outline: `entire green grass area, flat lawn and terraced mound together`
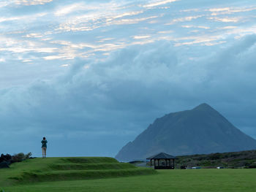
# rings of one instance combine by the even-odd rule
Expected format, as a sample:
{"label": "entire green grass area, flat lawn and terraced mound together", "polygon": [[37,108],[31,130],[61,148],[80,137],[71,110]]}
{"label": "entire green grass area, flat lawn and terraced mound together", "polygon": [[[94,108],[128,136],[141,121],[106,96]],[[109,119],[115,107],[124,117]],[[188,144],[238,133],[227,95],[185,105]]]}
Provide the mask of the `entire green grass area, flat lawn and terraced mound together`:
{"label": "entire green grass area, flat lawn and terraced mound together", "polygon": [[[11,169],[0,169],[0,186],[5,192],[256,191],[256,169],[175,169],[159,170],[157,174],[154,174],[152,169],[145,171],[145,169],[135,168],[129,164],[121,165],[112,158],[105,160],[108,162],[102,163],[95,158],[84,158],[83,160],[78,158],[71,160],[68,158],[33,159],[14,164]],[[36,166],[38,163],[40,163],[39,168],[42,172],[37,173],[35,170],[38,170]],[[112,164],[111,167],[108,164]],[[91,166],[88,167],[89,165]],[[76,177],[72,177],[72,174],[70,177],[56,177],[62,171],[64,171],[63,173],[73,173],[81,172],[80,169],[97,173],[90,174],[89,177],[85,177],[83,174],[77,174]],[[24,170],[34,174],[30,176],[25,174],[24,176]],[[119,173],[113,173],[113,171]],[[56,172],[56,174],[52,174],[52,172]],[[44,179],[38,179],[42,174],[45,175]],[[82,178],[79,178],[78,175]],[[20,179],[10,179],[10,177]],[[37,179],[31,179],[31,177]],[[46,179],[48,181],[45,182],[47,177],[50,177],[51,180]]]}

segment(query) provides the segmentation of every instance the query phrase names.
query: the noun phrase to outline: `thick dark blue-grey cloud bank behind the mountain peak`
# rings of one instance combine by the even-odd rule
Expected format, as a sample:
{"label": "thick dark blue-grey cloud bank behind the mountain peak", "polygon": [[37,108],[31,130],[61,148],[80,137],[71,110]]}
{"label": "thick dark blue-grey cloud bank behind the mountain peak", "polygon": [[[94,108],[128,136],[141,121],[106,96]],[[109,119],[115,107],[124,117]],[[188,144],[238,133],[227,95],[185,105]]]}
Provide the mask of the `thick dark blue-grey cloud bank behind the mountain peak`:
{"label": "thick dark blue-grey cloud bank behind the mountain peak", "polygon": [[[73,145],[80,146],[75,155],[115,155],[155,118],[202,102],[248,131],[256,125],[255,51],[251,35],[195,60],[167,42],[133,45],[106,61],[76,60],[56,80],[1,90],[0,132],[11,140],[15,133],[23,139],[46,135],[55,155],[68,155],[60,147]],[[58,145],[63,141],[72,146]],[[11,151],[22,150],[12,142]],[[94,151],[81,152],[86,145]]]}

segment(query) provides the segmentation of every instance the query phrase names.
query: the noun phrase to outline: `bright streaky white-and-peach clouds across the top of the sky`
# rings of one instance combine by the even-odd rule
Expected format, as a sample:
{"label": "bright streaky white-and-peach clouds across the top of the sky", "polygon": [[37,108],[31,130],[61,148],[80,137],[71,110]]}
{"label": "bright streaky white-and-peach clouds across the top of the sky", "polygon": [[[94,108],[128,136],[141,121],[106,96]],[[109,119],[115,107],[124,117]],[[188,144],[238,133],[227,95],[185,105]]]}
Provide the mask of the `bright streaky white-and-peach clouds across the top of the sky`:
{"label": "bright streaky white-and-peach clouds across the top of the sky", "polygon": [[[29,3],[44,5],[17,6]],[[162,9],[169,4],[170,7]],[[161,39],[184,47],[217,47],[232,41],[234,37],[241,38],[255,33],[253,4],[240,6],[232,3],[229,7],[221,5],[201,1],[175,3],[164,0],[52,3],[39,0],[1,1],[0,9],[4,15],[0,18],[1,54],[4,57],[12,55],[15,62],[21,63],[26,59],[36,62],[47,60],[58,63],[54,66],[61,66],[64,60],[104,58],[113,50]],[[227,11],[232,12],[232,15]],[[212,13],[219,15],[211,15]],[[227,26],[228,23],[234,26]],[[124,25],[127,25],[125,31]],[[193,39],[185,39],[191,35]],[[148,38],[142,39],[143,36]],[[69,44],[53,45],[53,42]],[[9,60],[6,58],[5,61]],[[13,60],[8,66],[12,68],[12,64]],[[37,70],[40,70],[45,64],[42,62],[37,66]],[[53,76],[56,70],[52,70]]]}

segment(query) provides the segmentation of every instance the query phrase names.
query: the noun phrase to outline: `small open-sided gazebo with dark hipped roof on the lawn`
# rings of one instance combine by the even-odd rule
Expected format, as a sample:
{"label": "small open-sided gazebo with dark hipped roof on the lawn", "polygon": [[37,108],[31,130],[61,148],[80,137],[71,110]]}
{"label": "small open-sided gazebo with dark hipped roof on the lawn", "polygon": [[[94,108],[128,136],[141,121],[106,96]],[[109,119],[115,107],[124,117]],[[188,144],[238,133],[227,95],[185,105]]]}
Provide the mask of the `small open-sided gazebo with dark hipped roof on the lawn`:
{"label": "small open-sided gazebo with dark hipped roof on the lawn", "polygon": [[174,169],[174,160],[177,158],[167,153],[159,153],[146,159],[150,159],[150,166],[152,166],[152,160],[154,160],[154,169]]}

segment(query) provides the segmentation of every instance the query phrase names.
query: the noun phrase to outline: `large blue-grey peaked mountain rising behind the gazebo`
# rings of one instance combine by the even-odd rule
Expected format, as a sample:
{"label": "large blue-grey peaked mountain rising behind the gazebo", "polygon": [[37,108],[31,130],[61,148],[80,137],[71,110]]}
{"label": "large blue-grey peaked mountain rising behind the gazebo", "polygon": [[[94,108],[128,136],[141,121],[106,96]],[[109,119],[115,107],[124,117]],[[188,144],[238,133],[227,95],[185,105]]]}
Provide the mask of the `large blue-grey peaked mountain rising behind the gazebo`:
{"label": "large blue-grey peaked mountain rising behind the gazebo", "polygon": [[256,149],[256,140],[233,126],[208,104],[157,118],[116,155],[119,161],[170,155],[223,153]]}

